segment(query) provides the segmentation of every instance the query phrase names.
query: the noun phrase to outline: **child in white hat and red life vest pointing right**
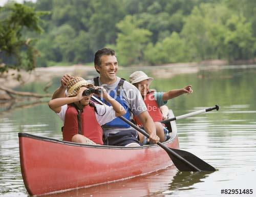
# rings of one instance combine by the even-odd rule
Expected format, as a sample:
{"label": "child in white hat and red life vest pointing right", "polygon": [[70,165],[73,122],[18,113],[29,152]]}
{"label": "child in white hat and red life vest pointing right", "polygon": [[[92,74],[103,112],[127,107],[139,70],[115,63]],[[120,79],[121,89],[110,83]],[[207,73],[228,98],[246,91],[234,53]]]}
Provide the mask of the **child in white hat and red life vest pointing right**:
{"label": "child in white hat and red life vest pointing right", "polygon": [[[168,92],[154,92],[150,90],[150,83],[154,78],[148,77],[142,71],[135,71],[129,77],[130,83],[135,85],[137,89],[139,89],[141,96],[146,104],[147,111],[151,115],[153,121],[156,125],[156,133],[160,138],[160,142],[164,142],[166,140],[166,135],[164,134],[164,127],[159,122],[163,120],[163,115],[160,111],[160,107],[167,103],[167,100],[180,96],[182,94],[190,94],[193,93],[191,89],[191,85],[185,86],[183,89],[179,90],[170,90]],[[141,126],[141,121],[138,117],[134,118],[137,125]],[[146,143],[146,139],[144,139],[143,135],[139,134],[140,142],[142,144]]]}

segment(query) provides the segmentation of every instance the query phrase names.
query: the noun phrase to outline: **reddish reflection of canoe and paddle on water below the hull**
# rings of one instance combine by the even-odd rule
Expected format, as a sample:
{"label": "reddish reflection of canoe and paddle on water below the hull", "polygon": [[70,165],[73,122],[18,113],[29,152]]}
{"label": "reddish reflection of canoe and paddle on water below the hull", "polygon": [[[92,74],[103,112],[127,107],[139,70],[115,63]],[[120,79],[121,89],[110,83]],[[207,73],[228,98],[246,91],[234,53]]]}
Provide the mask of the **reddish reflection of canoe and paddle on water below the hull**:
{"label": "reddish reflection of canoe and paddle on water below the hull", "polygon": [[47,197],[68,196],[164,196],[174,190],[193,189],[195,183],[203,182],[203,179],[211,172],[180,172],[174,166],[115,183],[103,184],[95,187],[76,189],[62,193],[46,195]]}

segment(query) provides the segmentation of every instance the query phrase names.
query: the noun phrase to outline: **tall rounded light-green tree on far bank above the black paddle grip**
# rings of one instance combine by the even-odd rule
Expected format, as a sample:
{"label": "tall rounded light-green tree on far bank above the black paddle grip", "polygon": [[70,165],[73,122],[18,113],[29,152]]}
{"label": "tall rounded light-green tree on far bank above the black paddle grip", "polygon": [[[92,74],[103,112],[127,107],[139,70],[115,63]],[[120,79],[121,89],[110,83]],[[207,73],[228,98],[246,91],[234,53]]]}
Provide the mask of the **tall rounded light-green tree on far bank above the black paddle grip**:
{"label": "tall rounded light-green tree on far bank above the black paddle grip", "polygon": [[217,58],[218,49],[223,48],[226,30],[222,20],[226,17],[222,13],[228,10],[214,4],[201,4],[186,18],[181,35],[195,60]]}

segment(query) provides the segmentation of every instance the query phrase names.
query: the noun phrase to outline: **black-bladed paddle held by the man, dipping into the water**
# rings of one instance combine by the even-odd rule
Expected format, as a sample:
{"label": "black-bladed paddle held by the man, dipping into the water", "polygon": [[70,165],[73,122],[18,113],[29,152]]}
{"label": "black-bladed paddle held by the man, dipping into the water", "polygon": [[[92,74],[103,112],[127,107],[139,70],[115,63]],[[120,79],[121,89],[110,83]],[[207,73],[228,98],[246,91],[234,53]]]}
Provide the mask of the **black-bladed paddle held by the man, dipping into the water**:
{"label": "black-bladed paddle held by the man, dipping into the water", "polygon": [[[102,101],[97,99],[96,97],[92,96],[92,99],[97,101],[100,104],[103,104]],[[138,130],[141,134],[146,136],[147,138],[150,137],[143,129],[132,123],[131,121],[125,119],[124,117],[119,117],[121,120],[126,122],[127,124],[131,125],[133,128]],[[174,149],[169,148],[162,144],[161,142],[157,143],[160,147],[162,147],[167,154],[169,155],[170,159],[173,161],[174,165],[180,170],[180,171],[216,171],[214,167],[206,163],[205,161],[201,160],[197,156],[191,154],[190,152],[180,150],[180,149]]]}

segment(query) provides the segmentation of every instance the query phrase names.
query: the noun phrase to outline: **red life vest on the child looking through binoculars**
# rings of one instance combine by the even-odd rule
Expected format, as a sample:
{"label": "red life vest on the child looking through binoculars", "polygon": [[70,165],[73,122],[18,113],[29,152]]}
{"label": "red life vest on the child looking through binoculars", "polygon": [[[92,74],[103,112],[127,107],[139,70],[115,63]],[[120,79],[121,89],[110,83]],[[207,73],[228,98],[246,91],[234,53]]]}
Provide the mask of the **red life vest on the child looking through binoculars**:
{"label": "red life vest on the child looking through binoculars", "polygon": [[[80,113],[81,131],[80,134],[94,141],[96,144],[103,144],[102,128],[99,125],[94,107],[86,105]],[[65,115],[65,122],[62,131],[63,140],[71,142],[72,137],[79,134],[78,112],[74,106],[68,105]]]}

